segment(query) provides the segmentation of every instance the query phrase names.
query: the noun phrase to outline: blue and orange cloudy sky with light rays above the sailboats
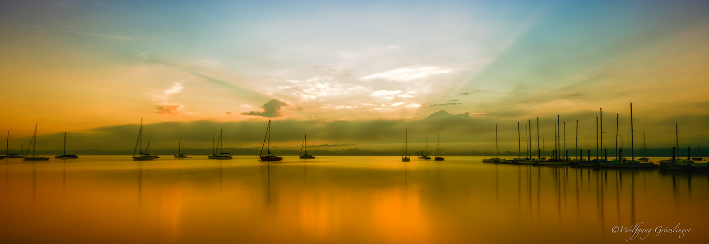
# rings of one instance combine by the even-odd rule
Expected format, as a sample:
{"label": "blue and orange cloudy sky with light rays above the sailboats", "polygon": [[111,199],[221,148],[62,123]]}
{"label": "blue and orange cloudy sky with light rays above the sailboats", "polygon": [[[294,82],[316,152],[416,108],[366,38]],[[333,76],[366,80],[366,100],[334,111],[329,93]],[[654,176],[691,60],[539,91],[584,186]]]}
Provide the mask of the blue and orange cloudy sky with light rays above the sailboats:
{"label": "blue and orange cloudy sky with light rays above the sailboats", "polygon": [[[707,1],[3,1],[10,148],[709,145]],[[441,111],[443,110],[443,111]],[[618,127],[615,127],[618,115]],[[576,120],[579,133],[576,136]],[[498,124],[498,139],[495,139]],[[675,134],[677,124],[678,135]],[[618,128],[619,136],[615,136]],[[408,139],[405,131],[408,129]],[[569,134],[566,134],[569,133]],[[4,133],[2,133],[4,134]],[[534,141],[534,140],[532,140]],[[618,144],[621,144],[619,141]],[[536,143],[533,147],[536,147]],[[605,146],[608,147],[608,146]]]}

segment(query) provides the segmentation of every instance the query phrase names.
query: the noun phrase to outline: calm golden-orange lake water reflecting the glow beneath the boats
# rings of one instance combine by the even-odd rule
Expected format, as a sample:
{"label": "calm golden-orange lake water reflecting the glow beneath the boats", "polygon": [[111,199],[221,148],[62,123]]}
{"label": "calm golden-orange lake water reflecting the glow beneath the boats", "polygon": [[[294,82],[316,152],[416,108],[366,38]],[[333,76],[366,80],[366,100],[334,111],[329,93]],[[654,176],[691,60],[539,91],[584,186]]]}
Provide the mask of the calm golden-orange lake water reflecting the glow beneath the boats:
{"label": "calm golden-orange lake water reflecting the glow beneath the boats", "polygon": [[[474,156],[194,157],[3,159],[0,243],[709,239],[707,173],[497,165]],[[691,231],[658,232],[680,229]]]}

